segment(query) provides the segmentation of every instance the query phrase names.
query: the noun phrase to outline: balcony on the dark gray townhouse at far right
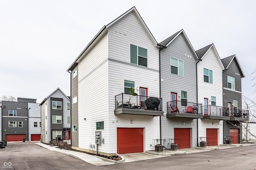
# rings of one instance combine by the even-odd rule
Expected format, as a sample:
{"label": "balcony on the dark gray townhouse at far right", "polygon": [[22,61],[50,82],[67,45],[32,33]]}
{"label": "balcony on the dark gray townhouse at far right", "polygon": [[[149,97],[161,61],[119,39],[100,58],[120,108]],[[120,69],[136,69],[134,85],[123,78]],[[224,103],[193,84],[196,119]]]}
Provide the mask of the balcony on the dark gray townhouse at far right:
{"label": "balcony on the dark gray townhouse at far right", "polygon": [[232,121],[249,121],[248,110],[225,108],[225,112]]}

